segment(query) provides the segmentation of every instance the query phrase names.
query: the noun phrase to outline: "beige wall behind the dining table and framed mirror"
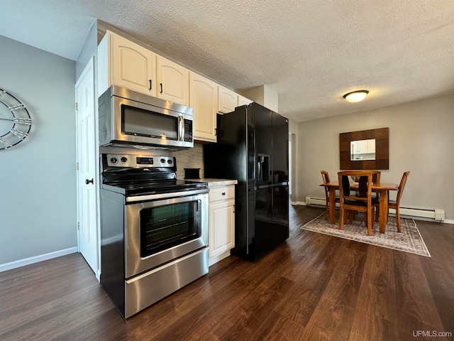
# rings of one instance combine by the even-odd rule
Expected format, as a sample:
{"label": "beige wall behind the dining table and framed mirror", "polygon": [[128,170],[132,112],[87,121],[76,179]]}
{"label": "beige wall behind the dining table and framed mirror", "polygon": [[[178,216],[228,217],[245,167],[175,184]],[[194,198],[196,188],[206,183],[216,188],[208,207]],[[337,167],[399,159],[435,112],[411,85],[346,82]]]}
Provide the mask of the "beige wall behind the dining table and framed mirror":
{"label": "beige wall behind the dining table and framed mirror", "polygon": [[[339,134],[389,127],[389,170],[381,181],[399,183],[410,171],[401,205],[440,208],[454,219],[454,96],[299,123],[294,201],[323,198],[320,171],[337,178]],[[395,194],[394,194],[395,195]]]}

